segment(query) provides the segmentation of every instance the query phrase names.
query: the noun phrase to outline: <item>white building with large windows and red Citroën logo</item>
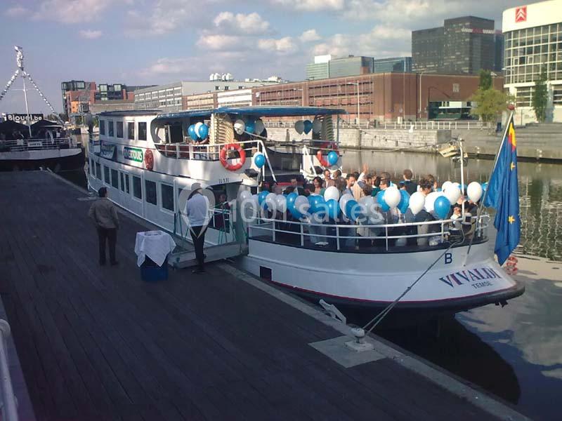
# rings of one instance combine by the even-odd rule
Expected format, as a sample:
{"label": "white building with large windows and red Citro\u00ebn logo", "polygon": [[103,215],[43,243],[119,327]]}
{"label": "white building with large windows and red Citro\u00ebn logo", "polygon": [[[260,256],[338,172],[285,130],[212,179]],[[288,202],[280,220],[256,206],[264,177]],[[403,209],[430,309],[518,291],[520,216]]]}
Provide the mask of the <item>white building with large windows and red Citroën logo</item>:
{"label": "white building with large windows and red Citro\u00ebn logo", "polygon": [[562,0],[509,8],[503,13],[503,28],[504,86],[516,97],[516,123],[536,121],[532,95],[543,68],[547,121],[562,122]]}

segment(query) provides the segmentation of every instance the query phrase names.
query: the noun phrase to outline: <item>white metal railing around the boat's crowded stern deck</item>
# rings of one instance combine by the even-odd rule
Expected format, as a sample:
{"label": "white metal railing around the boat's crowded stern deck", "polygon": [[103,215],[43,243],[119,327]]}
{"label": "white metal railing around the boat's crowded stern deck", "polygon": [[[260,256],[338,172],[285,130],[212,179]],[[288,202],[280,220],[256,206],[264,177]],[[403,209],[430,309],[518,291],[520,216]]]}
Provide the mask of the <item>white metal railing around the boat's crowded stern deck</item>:
{"label": "white metal railing around the boat's crowded stern deck", "polygon": [[341,224],[291,220],[261,219],[249,225],[249,239],[334,251],[427,250],[446,247],[451,242],[463,243],[488,239],[489,215],[459,220],[400,222],[396,224]]}

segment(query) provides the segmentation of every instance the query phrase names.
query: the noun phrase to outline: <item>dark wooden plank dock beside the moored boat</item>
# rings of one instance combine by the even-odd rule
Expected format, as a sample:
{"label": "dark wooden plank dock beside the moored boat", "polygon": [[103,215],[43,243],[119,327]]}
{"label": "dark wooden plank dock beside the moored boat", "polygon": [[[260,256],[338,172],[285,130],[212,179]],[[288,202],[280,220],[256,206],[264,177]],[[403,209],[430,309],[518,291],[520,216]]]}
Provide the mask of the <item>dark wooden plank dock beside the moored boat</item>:
{"label": "dark wooden plank dock beside the moored boat", "polygon": [[344,368],[309,345],[341,332],[221,265],[141,281],[131,218],[120,265],[98,266],[91,202],[54,175],[0,173],[0,192],[1,298],[37,420],[495,417],[390,358]]}

